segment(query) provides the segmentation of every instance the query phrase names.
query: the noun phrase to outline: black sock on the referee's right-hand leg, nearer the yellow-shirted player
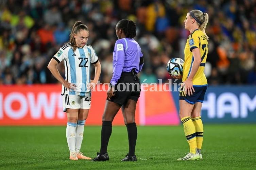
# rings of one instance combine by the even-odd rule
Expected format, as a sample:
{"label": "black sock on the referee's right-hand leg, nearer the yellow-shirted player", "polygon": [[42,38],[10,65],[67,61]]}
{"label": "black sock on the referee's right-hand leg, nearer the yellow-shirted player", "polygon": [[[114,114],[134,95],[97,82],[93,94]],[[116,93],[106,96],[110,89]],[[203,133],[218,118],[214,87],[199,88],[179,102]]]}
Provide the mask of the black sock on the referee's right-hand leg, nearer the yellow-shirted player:
{"label": "black sock on the referee's right-hand leg, nearer the yellow-shirted player", "polygon": [[135,145],[137,141],[137,126],[136,123],[126,125],[129,140],[129,153],[128,156],[135,155]]}

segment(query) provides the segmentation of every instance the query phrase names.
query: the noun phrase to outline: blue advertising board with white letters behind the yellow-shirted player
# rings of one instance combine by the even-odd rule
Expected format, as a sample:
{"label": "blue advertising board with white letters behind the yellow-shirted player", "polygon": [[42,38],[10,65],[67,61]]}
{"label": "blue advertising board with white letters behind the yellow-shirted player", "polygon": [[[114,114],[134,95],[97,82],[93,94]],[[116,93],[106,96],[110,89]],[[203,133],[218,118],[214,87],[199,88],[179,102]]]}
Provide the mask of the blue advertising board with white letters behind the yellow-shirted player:
{"label": "blue advertising board with white letters behind the yellow-shirted player", "polygon": [[256,86],[208,86],[201,116],[204,123],[256,123]]}

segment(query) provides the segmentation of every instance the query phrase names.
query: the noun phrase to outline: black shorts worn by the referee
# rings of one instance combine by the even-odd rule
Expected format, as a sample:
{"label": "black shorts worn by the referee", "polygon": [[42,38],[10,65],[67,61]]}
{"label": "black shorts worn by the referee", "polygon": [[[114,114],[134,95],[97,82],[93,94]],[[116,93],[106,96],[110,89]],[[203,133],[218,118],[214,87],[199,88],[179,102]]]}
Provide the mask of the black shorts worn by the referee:
{"label": "black shorts worn by the referee", "polygon": [[132,72],[122,72],[120,79],[115,85],[115,92],[108,101],[115,102],[119,105],[125,105],[129,99],[138,101],[140,96],[140,80],[134,80]]}

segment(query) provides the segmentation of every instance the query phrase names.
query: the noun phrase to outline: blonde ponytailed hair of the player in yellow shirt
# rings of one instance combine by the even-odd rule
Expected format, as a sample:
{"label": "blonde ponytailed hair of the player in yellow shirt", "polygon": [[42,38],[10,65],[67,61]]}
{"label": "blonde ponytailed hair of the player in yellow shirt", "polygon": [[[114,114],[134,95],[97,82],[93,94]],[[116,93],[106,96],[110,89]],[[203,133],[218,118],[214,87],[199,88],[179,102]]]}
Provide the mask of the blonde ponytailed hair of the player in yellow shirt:
{"label": "blonde ponytailed hair of the player in yellow shirt", "polygon": [[192,18],[194,18],[197,21],[197,23],[199,25],[199,29],[201,31],[203,31],[203,33],[205,34],[205,36],[206,36],[206,38],[208,40],[209,37],[205,33],[205,28],[206,28],[206,25],[207,25],[208,20],[209,20],[208,14],[207,13],[203,13],[201,10],[197,10],[197,9],[191,10],[189,12],[189,14],[190,14],[190,16]]}

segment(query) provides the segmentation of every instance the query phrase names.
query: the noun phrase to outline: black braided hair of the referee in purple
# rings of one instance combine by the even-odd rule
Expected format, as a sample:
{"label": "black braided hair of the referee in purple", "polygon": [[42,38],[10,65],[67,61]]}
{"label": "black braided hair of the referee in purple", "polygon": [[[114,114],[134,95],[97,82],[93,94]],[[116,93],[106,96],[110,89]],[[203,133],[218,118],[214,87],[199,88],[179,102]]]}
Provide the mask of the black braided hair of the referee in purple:
{"label": "black braided hair of the referee in purple", "polygon": [[117,28],[122,29],[127,38],[136,37],[137,27],[131,20],[122,19],[117,23]]}

